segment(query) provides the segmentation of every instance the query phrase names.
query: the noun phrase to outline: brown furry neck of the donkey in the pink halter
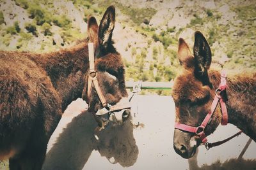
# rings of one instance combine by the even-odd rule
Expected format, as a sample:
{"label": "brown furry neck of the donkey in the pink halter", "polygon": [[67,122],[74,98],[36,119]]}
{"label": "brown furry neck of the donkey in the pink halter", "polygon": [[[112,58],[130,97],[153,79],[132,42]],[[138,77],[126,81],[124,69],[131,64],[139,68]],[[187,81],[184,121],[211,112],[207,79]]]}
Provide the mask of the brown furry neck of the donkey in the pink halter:
{"label": "brown furry neck of the donkey in the pink halter", "polygon": [[[220,71],[209,71],[213,90],[220,84]],[[256,141],[256,73],[227,74],[228,122]]]}

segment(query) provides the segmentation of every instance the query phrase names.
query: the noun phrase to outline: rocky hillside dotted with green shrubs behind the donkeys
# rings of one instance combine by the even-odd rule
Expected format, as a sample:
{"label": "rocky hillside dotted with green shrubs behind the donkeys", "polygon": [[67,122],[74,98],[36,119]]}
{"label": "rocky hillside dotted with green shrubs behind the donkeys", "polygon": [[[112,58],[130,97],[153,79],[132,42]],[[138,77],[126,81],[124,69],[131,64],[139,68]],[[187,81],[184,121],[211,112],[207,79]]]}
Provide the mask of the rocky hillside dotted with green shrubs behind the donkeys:
{"label": "rocky hillside dotted with green shrubs behind the donkeys", "polygon": [[127,80],[172,80],[178,38],[192,47],[196,30],[207,37],[213,62],[233,70],[256,68],[255,1],[1,0],[0,48],[49,52],[70,46],[86,38],[88,16],[99,22],[110,4],[116,7],[113,39]]}

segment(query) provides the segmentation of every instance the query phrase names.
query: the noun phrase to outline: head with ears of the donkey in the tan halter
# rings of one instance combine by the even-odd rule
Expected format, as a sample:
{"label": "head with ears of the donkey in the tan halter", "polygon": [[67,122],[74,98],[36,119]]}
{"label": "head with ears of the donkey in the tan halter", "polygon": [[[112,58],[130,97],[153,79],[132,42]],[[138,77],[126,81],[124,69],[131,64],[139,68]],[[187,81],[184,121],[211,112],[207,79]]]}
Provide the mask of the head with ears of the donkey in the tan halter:
{"label": "head with ears of the donkey in the tan halter", "polygon": [[[116,52],[113,46],[112,33],[115,27],[115,7],[109,6],[104,13],[100,25],[94,17],[88,19],[88,38],[94,45],[95,54],[95,74],[99,82],[99,89],[106,102],[115,105],[128,96],[124,81],[124,64],[120,53]],[[88,74],[86,74],[85,83],[88,83]],[[87,84],[86,84],[87,85]],[[92,90],[85,85],[83,99],[89,104],[88,111],[95,113],[103,108],[99,93],[94,84]],[[91,90],[90,96],[87,95]],[[131,110],[123,110],[122,120],[126,120]],[[102,120],[95,117],[99,126],[102,126]],[[122,122],[122,121],[121,121]]]}

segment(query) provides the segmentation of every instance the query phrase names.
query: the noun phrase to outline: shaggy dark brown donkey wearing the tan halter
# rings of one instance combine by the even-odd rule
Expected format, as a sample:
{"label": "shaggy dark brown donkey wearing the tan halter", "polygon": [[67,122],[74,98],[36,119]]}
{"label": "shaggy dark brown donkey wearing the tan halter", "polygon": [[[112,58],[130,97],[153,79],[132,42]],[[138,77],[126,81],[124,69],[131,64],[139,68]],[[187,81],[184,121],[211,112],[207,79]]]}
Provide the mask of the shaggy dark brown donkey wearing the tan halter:
{"label": "shaggy dark brown donkey wearing the tan halter", "polygon": [[[114,27],[113,6],[104,13],[99,28],[94,17],[88,19],[95,69],[109,104],[127,96],[124,65],[111,40]],[[0,53],[0,160],[9,159],[10,169],[41,169],[63,111],[86,89],[88,67],[85,40],[52,53]],[[90,98],[83,96],[95,113],[102,105],[94,89],[91,94]]]}

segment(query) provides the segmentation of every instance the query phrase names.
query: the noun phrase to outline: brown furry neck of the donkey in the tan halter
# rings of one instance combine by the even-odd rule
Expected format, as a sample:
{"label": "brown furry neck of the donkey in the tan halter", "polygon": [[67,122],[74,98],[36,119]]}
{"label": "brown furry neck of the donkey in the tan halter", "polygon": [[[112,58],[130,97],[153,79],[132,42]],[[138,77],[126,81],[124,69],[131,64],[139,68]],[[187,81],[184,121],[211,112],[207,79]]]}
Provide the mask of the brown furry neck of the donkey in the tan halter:
{"label": "brown furry neck of the donkey in the tan halter", "polygon": [[52,85],[61,99],[62,111],[72,101],[81,97],[83,87],[86,85],[84,74],[89,67],[87,43],[79,43],[58,52],[42,54],[35,61],[51,78]]}

